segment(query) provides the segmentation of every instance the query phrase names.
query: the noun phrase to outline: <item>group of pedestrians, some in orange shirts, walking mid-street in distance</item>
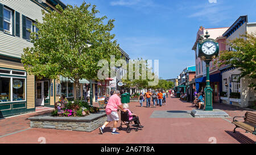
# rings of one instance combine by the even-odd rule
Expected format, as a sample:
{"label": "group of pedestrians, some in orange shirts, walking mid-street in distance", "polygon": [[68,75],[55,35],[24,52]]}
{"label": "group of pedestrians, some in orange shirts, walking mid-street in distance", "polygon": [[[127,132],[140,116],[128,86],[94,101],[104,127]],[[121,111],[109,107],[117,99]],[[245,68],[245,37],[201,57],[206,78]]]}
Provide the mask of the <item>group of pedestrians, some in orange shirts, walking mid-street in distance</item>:
{"label": "group of pedestrians, some in orange shirts, walking mid-street in distance", "polygon": [[171,91],[161,91],[161,90],[147,90],[147,93],[140,93],[138,102],[141,104],[141,107],[143,107],[143,102],[146,100],[146,107],[150,107],[151,101],[153,103],[153,106],[162,106],[166,104],[166,98],[168,98],[168,93],[171,94]]}

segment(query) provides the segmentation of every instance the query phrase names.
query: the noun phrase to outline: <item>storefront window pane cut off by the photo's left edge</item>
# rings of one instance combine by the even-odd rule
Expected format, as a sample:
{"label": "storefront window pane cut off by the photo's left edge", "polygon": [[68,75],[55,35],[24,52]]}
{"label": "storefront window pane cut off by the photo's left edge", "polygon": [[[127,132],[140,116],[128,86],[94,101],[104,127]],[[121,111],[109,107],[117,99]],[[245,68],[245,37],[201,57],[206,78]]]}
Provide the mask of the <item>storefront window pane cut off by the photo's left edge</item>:
{"label": "storefront window pane cut off by the photo's left edge", "polygon": [[10,102],[10,78],[0,77],[0,102]]}

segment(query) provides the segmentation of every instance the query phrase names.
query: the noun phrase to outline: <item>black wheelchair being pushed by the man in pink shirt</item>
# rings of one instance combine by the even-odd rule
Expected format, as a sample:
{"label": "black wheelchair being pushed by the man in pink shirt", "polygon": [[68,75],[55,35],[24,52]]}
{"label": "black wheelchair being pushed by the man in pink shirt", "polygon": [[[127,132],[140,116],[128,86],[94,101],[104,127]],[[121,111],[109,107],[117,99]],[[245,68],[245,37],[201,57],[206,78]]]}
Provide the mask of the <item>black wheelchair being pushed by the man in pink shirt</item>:
{"label": "black wheelchair being pushed by the man in pink shirt", "polygon": [[127,126],[127,128],[126,128],[126,132],[127,133],[131,132],[130,125],[132,125],[133,127],[136,127],[136,129],[135,129],[136,132],[139,130],[139,125],[133,124],[133,120],[129,120],[128,111],[126,111],[126,112],[121,111],[121,125],[120,125],[120,127],[118,127],[119,130],[123,129],[122,125],[126,125]]}

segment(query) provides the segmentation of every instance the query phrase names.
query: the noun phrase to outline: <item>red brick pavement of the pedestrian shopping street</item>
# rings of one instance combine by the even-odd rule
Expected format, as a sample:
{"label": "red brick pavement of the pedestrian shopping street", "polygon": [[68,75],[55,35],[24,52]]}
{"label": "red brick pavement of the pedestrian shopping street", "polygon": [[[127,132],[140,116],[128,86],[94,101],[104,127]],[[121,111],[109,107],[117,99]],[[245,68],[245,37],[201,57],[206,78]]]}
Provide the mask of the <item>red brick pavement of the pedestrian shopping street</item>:
{"label": "red brick pavement of the pedestrian shopping street", "polygon": [[[144,103],[146,106],[146,103]],[[47,114],[48,111],[39,111],[33,114],[21,115],[0,120],[0,143],[40,143],[39,137],[44,137],[46,143],[206,143],[210,137],[216,138],[216,143],[255,143],[256,136],[245,133],[237,128],[233,133],[234,125],[230,123],[233,116],[242,116],[246,110],[220,103],[214,103],[213,108],[227,112],[231,118],[152,118],[155,111],[165,111],[164,115],[185,113],[191,111],[194,106],[191,103],[181,102],[177,98],[168,98],[167,104],[159,107],[139,107],[139,103],[130,103],[130,110],[139,115],[144,128],[135,132],[126,133],[125,126],[120,135],[111,135],[113,127],[111,123],[104,129],[104,135],[100,135],[98,129],[93,132],[60,131],[55,129],[30,128],[27,118],[36,115]],[[166,112],[167,111],[167,112]],[[20,131],[20,132],[19,132]],[[13,134],[12,134],[13,133]],[[214,138],[213,138],[214,139]]]}

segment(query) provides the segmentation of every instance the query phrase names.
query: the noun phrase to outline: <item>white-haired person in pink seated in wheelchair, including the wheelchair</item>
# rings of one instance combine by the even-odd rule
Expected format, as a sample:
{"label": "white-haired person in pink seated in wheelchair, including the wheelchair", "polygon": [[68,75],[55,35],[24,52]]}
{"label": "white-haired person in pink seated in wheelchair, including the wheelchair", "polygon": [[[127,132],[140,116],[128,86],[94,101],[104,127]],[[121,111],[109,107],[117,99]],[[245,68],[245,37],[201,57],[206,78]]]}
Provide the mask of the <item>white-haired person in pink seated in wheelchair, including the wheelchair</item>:
{"label": "white-haired person in pink seated in wheelchair, including the wheelchair", "polygon": [[132,124],[132,122],[134,122],[133,127],[137,127],[135,131],[138,131],[138,128],[143,128],[143,126],[139,122],[139,116],[136,114],[133,114],[128,108],[129,108],[129,104],[127,103],[123,104],[123,110],[125,110],[126,112],[121,111],[121,125],[120,127],[118,127],[118,129],[122,130],[122,125],[123,125],[122,122],[123,122],[125,123],[124,125],[127,125],[126,131],[130,133],[131,132],[130,124]]}

